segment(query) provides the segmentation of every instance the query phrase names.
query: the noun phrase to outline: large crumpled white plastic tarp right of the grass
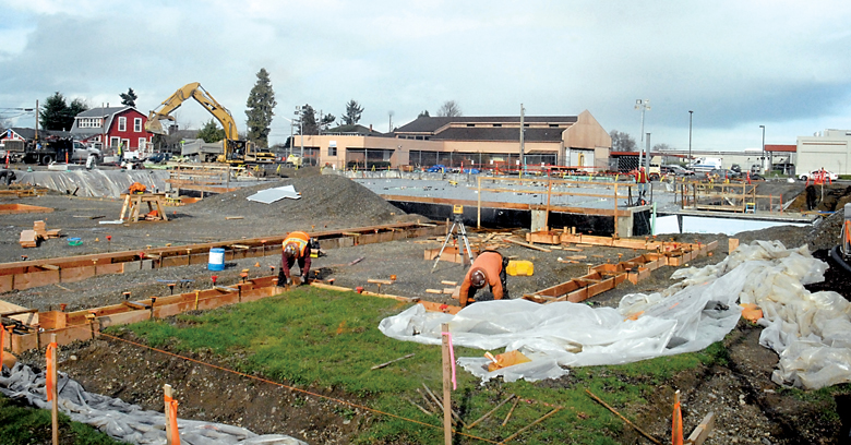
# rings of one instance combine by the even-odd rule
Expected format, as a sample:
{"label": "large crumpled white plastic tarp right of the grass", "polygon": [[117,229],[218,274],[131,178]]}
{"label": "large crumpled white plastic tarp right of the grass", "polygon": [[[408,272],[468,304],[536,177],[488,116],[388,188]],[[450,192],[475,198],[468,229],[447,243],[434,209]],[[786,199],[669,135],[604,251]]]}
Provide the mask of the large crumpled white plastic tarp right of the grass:
{"label": "large crumpled white plastic tarp right of the grass", "polygon": [[[787,351],[784,356],[795,358],[782,358],[775,380],[819,387],[811,386],[815,382],[802,374],[825,364],[807,363],[806,370],[798,366],[816,351],[824,351],[825,346],[808,350],[802,358],[798,351],[808,344],[795,339],[806,337],[806,341],[814,341],[814,336],[827,335],[824,338],[829,341],[851,345],[848,302],[836,292],[811,294],[803,288],[805,284],[823,280],[826,268],[824,262],[812,257],[806,246],[787,250],[777,241],[755,241],[740,246],[717,265],[675,272],[672,277],[683,280],[662,292],[625,296],[619,309],[511,300],[478,302],[453,316],[427,313],[421,305],[415,305],[383,320],[379,328],[392,338],[439,345],[440,325],[448,323],[455,345],[484,350],[517,349],[532,359],[531,363],[492,373],[484,369],[488,363],[484,358],[458,359],[459,364],[483,382],[498,375],[507,382],[536,381],[565,374],[567,371],[561,366],[619,364],[702,350],[735,327],[741,297],[742,302],[753,300],[766,312],[764,323],[769,327],[763,333],[762,344],[770,344],[778,352],[786,350],[786,347],[778,349],[779,345],[793,347],[789,348],[793,352]],[[837,318],[829,318],[829,327],[815,327],[813,317],[822,321],[815,314],[828,318],[828,312]],[[630,320],[635,314],[639,316]],[[842,360],[851,363],[851,351],[843,351],[848,359]],[[838,353],[832,352],[832,359],[826,364],[829,368],[826,372],[831,376],[841,363]],[[842,378],[851,381],[848,365]]]}

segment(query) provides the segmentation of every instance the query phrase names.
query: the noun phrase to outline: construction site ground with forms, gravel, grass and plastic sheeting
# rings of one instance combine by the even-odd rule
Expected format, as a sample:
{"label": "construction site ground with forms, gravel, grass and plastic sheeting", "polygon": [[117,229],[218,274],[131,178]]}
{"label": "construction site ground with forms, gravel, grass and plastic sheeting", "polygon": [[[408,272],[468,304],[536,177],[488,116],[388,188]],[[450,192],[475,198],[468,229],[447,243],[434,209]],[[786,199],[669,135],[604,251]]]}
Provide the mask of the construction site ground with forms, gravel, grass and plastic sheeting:
{"label": "construction site ground with forms, gravel, grass and plastic sheeting", "polygon": [[[622,176],[15,173],[0,185],[0,392],[49,408],[55,341],[59,409],[121,442],[851,432],[847,184],[808,208],[796,181],[670,179],[643,195]],[[316,249],[287,285],[297,230]],[[506,298],[484,288],[462,308],[492,250]]]}

